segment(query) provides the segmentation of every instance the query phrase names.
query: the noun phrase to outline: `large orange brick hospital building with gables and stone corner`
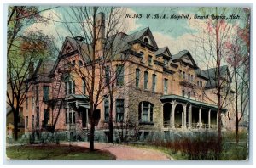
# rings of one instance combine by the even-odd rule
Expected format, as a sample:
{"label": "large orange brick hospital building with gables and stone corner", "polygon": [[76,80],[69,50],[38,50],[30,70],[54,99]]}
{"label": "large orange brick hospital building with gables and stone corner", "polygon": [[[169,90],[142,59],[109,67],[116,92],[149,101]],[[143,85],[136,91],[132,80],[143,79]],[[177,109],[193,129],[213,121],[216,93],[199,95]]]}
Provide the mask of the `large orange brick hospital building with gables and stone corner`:
{"label": "large orange brick hospital building with gables and stone corner", "polygon": [[[97,18],[99,23],[104,22],[104,14],[98,14]],[[97,30],[103,39],[97,42],[99,54],[104,30],[104,26]],[[88,45],[81,36],[67,37],[55,63],[44,63],[38,69],[24,104],[26,133],[37,132],[39,136],[40,132],[54,128],[63,138],[87,138],[89,98],[83,78],[73,67],[83,70],[86,66],[86,59],[81,58],[88,56],[88,49],[83,50]],[[132,132],[137,130],[143,137],[149,132],[217,130],[216,68],[201,70],[187,50],[172,54],[167,47],[159,48],[149,28],[130,35],[117,34],[114,46],[122,46],[117,49],[117,55],[128,58],[124,64],[112,60],[115,71],[119,71],[115,82],[118,89],[113,94],[115,138],[120,123],[127,126],[128,121],[133,126]],[[220,71],[222,81],[228,86],[227,66],[222,66]],[[96,79],[96,82],[101,81]],[[105,99],[96,112],[96,138],[106,141],[109,115],[106,89],[101,95]],[[223,96],[225,127],[233,107],[229,88],[223,87]]]}

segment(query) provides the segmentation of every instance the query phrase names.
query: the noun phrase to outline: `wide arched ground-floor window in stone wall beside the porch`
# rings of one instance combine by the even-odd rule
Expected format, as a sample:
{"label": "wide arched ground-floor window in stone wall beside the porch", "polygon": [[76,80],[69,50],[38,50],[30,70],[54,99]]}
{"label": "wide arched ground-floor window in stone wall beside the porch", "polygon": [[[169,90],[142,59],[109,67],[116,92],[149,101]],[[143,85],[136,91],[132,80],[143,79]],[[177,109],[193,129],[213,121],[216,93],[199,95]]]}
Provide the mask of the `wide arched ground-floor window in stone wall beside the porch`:
{"label": "wide arched ground-floor window in stone wall beside the porch", "polygon": [[149,102],[139,104],[139,120],[142,122],[153,122],[154,105]]}

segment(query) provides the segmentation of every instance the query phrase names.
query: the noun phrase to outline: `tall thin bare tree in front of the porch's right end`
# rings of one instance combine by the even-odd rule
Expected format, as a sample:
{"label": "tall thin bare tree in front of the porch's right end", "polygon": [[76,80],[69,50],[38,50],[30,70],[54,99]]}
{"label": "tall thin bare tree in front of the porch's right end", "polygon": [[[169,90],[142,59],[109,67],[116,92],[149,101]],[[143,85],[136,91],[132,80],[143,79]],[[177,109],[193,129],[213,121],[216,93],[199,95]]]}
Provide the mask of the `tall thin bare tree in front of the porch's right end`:
{"label": "tall thin bare tree in front of the porch's right end", "polygon": [[[229,14],[238,14],[239,8],[200,8],[200,12],[201,14],[209,14],[211,16],[203,20],[203,27],[199,29],[201,36],[197,36],[197,39],[201,44],[201,54],[207,60],[207,69],[211,66],[215,68],[214,78],[216,83],[211,84],[214,85],[212,93],[217,97],[217,100],[212,98],[208,99],[218,106],[218,144],[221,149],[221,113],[224,109],[226,99],[230,96],[231,87],[229,72],[227,72],[227,76],[223,75],[223,65],[226,64],[227,58],[225,54],[225,43],[229,41],[230,36],[234,36],[235,26],[235,20],[226,19],[226,17],[228,17]],[[207,74],[207,76],[209,76],[209,74]]]}

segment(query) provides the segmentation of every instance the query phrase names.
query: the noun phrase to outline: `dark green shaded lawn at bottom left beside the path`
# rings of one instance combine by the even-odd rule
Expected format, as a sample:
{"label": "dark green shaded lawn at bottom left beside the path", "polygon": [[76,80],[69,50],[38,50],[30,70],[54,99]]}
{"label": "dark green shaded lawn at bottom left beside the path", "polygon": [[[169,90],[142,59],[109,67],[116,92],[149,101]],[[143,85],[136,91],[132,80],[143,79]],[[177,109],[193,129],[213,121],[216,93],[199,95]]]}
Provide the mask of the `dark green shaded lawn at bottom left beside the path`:
{"label": "dark green shaded lawn at bottom left beside the path", "polygon": [[6,155],[13,160],[115,160],[107,151],[68,145],[25,145],[6,148]]}

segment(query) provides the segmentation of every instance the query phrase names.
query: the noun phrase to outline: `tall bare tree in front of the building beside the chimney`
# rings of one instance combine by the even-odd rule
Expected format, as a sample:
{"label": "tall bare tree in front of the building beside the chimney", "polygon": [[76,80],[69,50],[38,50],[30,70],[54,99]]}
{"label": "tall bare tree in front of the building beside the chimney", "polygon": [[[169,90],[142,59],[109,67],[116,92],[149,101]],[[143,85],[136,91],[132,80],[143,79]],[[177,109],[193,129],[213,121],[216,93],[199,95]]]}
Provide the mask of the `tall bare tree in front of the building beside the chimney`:
{"label": "tall bare tree in front of the building beside the chimney", "polygon": [[[67,9],[67,16],[73,20],[73,24],[67,18],[64,19],[67,30],[72,36],[81,34],[75,39],[80,51],[79,59],[84,66],[74,66],[73,72],[84,81],[86,94],[90,100],[90,150],[94,150],[95,115],[98,105],[106,95],[110,96],[112,108],[108,122],[110,132],[113,134],[112,95],[117,89],[116,85],[124,86],[123,77],[126,66],[124,63],[127,58],[125,54],[119,53],[120,49],[124,48],[124,44],[121,41],[118,41],[119,43],[115,41],[122,36],[119,32],[124,31],[120,20],[121,10],[113,7],[71,7]],[[113,60],[115,60],[114,63]],[[108,79],[106,78],[107,67],[109,68]],[[119,78],[121,74],[122,79]]]}

